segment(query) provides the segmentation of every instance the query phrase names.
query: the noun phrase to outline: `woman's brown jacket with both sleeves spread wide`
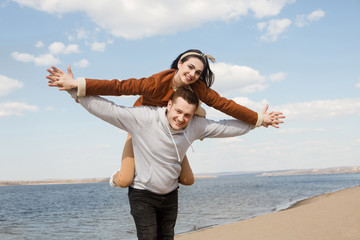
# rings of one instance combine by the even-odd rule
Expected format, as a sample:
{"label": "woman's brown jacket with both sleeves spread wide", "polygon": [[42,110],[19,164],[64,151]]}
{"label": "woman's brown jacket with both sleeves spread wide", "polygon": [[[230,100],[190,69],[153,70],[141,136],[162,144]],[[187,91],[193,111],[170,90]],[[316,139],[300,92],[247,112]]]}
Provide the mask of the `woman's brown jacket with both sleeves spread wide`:
{"label": "woman's brown jacket with both sleeves spread wide", "polygon": [[[85,79],[86,95],[141,95],[134,106],[151,105],[166,106],[171,99],[174,90],[172,80],[176,70],[170,69],[154,74],[148,78],[119,81],[117,79],[104,81],[97,79]],[[191,88],[200,101],[236,119],[260,125],[258,114],[244,106],[221,97],[216,91],[208,88],[203,81],[196,81]]]}

